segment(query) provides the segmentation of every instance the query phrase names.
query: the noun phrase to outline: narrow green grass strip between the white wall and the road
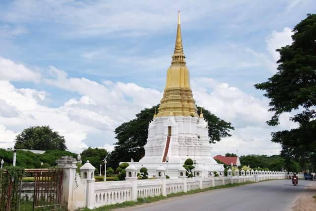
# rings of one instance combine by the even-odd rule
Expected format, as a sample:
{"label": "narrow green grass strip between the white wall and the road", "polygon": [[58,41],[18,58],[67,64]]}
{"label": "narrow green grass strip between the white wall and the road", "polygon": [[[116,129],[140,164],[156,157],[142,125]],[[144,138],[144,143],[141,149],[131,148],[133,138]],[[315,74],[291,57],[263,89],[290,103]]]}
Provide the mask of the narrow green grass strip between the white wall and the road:
{"label": "narrow green grass strip between the white wall and the road", "polygon": [[117,208],[132,207],[132,206],[142,205],[146,203],[153,203],[153,202],[157,202],[157,201],[171,198],[171,197],[178,197],[178,196],[183,196],[183,195],[188,195],[188,194],[194,194],[194,193],[216,190],[216,189],[221,189],[221,188],[235,187],[235,186],[251,184],[251,183],[255,183],[255,182],[241,182],[241,183],[234,183],[234,184],[219,185],[216,187],[209,187],[205,189],[190,190],[186,193],[185,192],[171,193],[171,194],[168,194],[167,196],[153,196],[153,197],[146,197],[146,198],[137,198],[136,202],[128,201],[128,202],[118,203],[114,205],[105,205],[99,208],[95,208],[93,210],[90,210],[88,208],[83,208],[83,209],[80,209],[79,211],[111,211]]}

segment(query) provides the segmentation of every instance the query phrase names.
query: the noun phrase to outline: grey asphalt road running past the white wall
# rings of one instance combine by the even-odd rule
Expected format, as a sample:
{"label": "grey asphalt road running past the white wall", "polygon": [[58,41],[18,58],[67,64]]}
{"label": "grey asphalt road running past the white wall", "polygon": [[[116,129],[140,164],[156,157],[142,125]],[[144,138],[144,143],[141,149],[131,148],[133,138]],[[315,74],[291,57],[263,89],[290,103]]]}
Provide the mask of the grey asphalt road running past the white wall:
{"label": "grey asphalt road running past the white wall", "polygon": [[316,181],[282,179],[223,188],[122,209],[136,211],[290,211],[295,198]]}

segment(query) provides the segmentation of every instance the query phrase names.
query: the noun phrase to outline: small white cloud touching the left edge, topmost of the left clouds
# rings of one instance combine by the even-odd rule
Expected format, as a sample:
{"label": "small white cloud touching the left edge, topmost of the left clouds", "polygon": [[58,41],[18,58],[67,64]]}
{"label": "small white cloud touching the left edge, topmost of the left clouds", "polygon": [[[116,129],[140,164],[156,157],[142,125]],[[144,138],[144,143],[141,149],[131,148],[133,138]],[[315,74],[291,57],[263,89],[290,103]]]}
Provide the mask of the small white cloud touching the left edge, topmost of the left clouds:
{"label": "small white cloud touching the left edge, topmost of the left clouds", "polygon": [[40,74],[26,68],[22,64],[16,64],[11,60],[0,57],[0,80],[10,81],[38,81]]}

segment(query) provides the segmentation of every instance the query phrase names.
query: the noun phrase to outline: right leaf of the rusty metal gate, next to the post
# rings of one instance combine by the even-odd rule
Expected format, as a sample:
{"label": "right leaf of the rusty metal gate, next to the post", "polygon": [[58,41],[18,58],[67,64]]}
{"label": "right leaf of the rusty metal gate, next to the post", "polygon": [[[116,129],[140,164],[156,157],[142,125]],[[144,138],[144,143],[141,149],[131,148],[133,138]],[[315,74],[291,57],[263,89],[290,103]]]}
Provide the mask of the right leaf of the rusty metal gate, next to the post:
{"label": "right leaf of the rusty metal gate, next to the post", "polygon": [[34,176],[33,211],[59,208],[63,191],[63,170],[26,169],[25,172]]}

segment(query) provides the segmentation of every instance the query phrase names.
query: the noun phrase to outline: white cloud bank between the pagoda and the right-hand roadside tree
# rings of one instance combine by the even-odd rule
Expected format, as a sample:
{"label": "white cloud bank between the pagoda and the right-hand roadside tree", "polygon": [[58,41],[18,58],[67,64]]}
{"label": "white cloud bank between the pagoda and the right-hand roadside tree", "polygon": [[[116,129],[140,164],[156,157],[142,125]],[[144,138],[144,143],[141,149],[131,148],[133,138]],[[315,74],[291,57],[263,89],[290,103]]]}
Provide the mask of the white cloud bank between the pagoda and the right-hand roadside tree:
{"label": "white cloud bank between the pagoda and the right-hand roadside tree", "polygon": [[278,154],[280,145],[271,142],[271,132],[297,127],[290,122],[290,114],[280,116],[280,126],[267,126],[272,116],[268,112],[268,100],[248,95],[227,83],[213,78],[191,80],[194,98],[198,106],[205,107],[216,116],[231,122],[235,127],[232,137],[224,138],[213,145],[213,155],[235,152],[244,154]]}

